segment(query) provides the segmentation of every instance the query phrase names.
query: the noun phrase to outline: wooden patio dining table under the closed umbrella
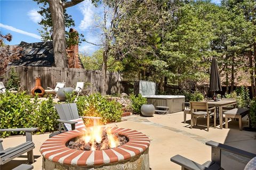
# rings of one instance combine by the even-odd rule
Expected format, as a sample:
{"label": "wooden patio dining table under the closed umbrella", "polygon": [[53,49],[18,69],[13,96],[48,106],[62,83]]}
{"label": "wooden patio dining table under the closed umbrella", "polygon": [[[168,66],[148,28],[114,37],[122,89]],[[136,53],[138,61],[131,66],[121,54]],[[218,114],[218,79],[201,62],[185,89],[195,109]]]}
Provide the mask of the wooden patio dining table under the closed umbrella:
{"label": "wooden patio dining table under the closed umbrella", "polygon": [[226,107],[230,105],[236,106],[237,101],[236,100],[220,100],[220,101],[207,101],[207,103],[209,107],[219,108],[220,129],[222,129],[222,119],[223,119],[222,107]]}

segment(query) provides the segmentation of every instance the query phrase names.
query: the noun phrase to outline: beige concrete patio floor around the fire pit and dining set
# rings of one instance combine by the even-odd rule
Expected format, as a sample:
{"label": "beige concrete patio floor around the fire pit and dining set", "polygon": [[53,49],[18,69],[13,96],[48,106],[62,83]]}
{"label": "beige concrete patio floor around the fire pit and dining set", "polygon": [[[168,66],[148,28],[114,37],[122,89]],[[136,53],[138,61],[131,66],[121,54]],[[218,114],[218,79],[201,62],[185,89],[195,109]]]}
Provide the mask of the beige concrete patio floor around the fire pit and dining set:
{"label": "beige concrete patio floor around the fire pit and dining set", "polygon": [[[247,126],[246,116],[243,118],[243,126]],[[183,123],[183,112],[157,115],[153,117],[142,117],[139,115],[131,115],[124,117],[125,120],[119,123],[108,124],[107,126],[118,126],[120,128],[130,128],[138,130],[148,135],[151,140],[149,147],[149,162],[151,169],[181,169],[180,166],[170,161],[174,155],[182,155],[199,164],[203,164],[211,159],[211,147],[206,146],[205,142],[213,140],[220,143],[237,147],[256,154],[256,133],[239,131],[238,121],[230,121],[228,127],[230,129],[210,128],[206,131],[206,120],[198,119],[198,126],[190,129],[190,121]],[[187,115],[190,120],[190,115]],[[210,124],[212,125],[212,124]],[[33,164],[34,169],[42,169],[42,156],[39,148],[42,143],[49,137],[49,133],[41,135],[33,135],[33,142],[36,145],[34,155],[36,162]],[[17,146],[21,142],[25,142],[23,136],[9,137],[3,139],[4,148]],[[16,158],[0,169],[12,169],[22,163],[26,163],[26,154]],[[243,169],[249,159],[239,157],[228,152],[222,154],[222,167],[224,169]]]}

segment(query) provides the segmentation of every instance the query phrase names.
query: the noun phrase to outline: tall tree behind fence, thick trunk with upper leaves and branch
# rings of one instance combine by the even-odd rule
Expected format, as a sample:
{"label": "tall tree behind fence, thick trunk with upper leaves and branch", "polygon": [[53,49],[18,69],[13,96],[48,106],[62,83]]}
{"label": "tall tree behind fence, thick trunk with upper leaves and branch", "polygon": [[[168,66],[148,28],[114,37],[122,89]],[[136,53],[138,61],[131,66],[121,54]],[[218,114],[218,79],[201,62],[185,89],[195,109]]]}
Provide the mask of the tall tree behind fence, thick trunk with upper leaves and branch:
{"label": "tall tree behind fence, thick trunk with upper leaves and branch", "polygon": [[[56,67],[68,67],[67,53],[66,53],[66,36],[65,36],[65,19],[66,25],[74,25],[74,21],[70,15],[66,14],[66,8],[81,3],[84,0],[34,0],[38,4],[43,4],[39,13],[44,15],[45,18],[41,21],[44,25],[45,31],[47,26],[52,26],[52,40],[53,40],[53,52]],[[46,7],[46,5],[49,7]],[[49,13],[50,11],[50,13]],[[49,23],[51,21],[52,23]],[[50,35],[46,35],[44,38],[49,38]]]}

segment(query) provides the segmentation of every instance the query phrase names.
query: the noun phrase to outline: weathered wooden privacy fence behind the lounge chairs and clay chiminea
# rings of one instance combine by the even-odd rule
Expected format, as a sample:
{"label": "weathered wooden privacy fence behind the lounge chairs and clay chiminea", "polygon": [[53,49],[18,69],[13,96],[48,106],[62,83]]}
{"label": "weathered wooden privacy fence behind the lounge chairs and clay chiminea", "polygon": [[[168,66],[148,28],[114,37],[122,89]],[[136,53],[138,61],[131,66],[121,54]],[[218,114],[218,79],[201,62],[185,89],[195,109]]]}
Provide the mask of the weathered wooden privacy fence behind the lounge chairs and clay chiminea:
{"label": "weathered wooden privacy fence behind the lounge chairs and clay chiminea", "polygon": [[[54,88],[57,82],[66,82],[65,87],[75,88],[76,82],[83,81],[88,83],[84,89],[90,89],[90,94],[101,92],[101,71],[87,71],[85,69],[69,69],[61,67],[34,67],[34,66],[8,66],[7,71],[0,76],[0,81],[5,84],[9,78],[11,67],[17,71],[20,78],[21,90],[30,90],[35,86],[35,78],[41,78],[41,86]],[[119,80],[121,74],[117,72],[107,73],[107,94],[122,93],[128,91],[125,83]]]}

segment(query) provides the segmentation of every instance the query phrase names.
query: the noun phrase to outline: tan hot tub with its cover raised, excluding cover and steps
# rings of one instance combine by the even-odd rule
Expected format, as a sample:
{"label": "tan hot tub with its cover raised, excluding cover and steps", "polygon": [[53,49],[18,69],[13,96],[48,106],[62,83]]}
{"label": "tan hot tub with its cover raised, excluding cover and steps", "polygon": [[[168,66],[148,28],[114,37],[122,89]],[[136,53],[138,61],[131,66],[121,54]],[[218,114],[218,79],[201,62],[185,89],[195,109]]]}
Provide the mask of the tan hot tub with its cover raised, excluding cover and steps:
{"label": "tan hot tub with its cover raised, excluding cover and steps", "polygon": [[143,95],[147,98],[149,104],[156,106],[169,107],[169,113],[182,111],[182,103],[185,102],[185,96],[177,95]]}

